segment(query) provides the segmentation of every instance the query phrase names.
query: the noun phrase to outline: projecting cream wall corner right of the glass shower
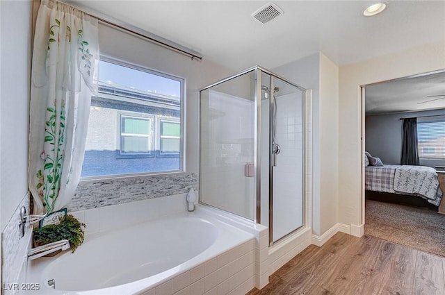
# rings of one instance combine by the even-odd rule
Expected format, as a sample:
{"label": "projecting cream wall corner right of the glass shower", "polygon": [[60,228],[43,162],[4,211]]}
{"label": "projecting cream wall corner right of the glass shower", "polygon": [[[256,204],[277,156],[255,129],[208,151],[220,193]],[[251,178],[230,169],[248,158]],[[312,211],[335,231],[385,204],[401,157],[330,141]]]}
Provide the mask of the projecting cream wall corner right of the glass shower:
{"label": "projecting cream wall corner right of the glass shower", "polygon": [[316,53],[273,71],[313,90],[312,233],[323,235],[338,222],[338,67]]}

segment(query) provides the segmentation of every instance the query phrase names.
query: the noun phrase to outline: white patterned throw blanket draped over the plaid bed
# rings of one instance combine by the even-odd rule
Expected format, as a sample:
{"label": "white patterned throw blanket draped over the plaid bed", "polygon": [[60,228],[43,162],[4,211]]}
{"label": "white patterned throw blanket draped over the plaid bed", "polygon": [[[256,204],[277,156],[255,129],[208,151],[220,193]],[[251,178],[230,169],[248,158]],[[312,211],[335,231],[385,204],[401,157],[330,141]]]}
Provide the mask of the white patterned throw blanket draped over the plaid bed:
{"label": "white patterned throw blanket draped over the plaid bed", "polygon": [[403,165],[394,174],[394,190],[416,194],[426,199],[437,199],[437,172],[431,167]]}

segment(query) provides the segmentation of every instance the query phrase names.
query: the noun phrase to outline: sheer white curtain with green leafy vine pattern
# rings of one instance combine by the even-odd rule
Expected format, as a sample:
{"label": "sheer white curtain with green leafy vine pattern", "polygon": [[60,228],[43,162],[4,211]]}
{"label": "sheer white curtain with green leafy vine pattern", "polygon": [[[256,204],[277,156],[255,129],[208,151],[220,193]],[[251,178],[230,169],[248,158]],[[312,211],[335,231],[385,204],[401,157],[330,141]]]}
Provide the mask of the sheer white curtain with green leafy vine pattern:
{"label": "sheer white curtain with green leafy vine pattern", "polygon": [[42,1],[31,74],[29,189],[34,212],[70,203],[79,183],[99,68],[97,19]]}

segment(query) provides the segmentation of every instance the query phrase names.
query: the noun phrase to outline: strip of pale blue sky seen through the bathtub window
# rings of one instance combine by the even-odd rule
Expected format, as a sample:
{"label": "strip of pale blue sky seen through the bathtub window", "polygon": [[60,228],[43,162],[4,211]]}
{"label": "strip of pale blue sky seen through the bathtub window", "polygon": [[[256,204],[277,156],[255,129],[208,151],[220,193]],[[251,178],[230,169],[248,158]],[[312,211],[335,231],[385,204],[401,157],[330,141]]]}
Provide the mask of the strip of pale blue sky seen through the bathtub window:
{"label": "strip of pale blue sky seen through the bathtub window", "polygon": [[159,94],[181,96],[181,84],[179,81],[115,65],[104,60],[101,60],[99,64],[99,80],[104,82],[113,81],[114,83],[143,91],[151,90]]}

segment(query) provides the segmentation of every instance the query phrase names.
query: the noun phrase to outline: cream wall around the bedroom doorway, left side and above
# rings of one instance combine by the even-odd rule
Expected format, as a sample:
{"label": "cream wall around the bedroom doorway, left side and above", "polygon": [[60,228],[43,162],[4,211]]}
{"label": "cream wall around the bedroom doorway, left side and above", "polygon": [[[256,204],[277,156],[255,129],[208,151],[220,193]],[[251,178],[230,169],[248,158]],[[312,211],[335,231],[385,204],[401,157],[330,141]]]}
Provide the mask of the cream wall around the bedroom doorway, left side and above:
{"label": "cream wall around the bedroom doorway, left side and above", "polygon": [[360,85],[445,68],[445,41],[339,68],[339,222],[362,225]]}

